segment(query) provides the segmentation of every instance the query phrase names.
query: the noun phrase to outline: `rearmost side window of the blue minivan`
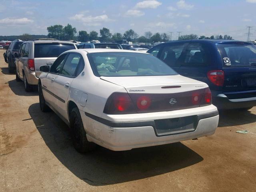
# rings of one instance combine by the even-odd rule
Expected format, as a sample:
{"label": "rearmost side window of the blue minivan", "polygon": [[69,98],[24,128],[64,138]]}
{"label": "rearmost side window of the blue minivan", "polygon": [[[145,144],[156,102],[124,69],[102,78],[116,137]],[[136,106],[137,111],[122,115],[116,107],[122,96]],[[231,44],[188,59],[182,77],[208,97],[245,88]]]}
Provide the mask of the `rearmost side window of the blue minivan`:
{"label": "rearmost side window of the blue minivan", "polygon": [[208,66],[210,61],[208,48],[200,43],[192,43],[186,49],[182,66]]}

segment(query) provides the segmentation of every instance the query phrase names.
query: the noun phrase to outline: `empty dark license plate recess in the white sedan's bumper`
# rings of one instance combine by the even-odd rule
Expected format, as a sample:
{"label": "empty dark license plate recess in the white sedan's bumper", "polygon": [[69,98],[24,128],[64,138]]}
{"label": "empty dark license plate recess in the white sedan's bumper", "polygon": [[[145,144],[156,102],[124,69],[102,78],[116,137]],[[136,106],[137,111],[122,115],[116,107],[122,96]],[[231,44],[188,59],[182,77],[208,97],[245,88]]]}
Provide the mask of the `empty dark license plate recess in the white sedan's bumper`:
{"label": "empty dark license plate recess in the white sedan's bumper", "polygon": [[185,132],[193,132],[194,130],[196,130],[196,122],[196,116],[155,120],[156,135],[164,136],[181,134]]}

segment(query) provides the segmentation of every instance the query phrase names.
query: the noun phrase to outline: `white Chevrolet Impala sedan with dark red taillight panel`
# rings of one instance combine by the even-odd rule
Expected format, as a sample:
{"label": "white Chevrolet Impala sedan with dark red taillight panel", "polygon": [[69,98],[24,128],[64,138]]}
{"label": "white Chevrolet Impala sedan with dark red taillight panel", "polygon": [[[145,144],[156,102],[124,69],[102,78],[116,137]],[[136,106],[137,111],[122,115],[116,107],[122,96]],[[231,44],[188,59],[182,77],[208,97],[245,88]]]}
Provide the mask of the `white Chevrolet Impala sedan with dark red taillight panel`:
{"label": "white Chevrolet Impala sedan with dark red taillight panel", "polygon": [[79,152],[169,144],[210,136],[218,126],[207,84],[148,53],[69,50],[40,70],[40,108],[70,126]]}

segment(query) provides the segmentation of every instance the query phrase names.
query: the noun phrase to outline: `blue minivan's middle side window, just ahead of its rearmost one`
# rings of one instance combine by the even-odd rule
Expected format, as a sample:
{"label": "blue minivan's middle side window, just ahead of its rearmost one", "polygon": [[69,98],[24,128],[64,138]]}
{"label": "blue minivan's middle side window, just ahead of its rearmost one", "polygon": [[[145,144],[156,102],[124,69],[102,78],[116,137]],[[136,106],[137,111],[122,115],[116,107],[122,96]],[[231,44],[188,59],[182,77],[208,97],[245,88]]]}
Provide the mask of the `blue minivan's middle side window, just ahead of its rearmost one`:
{"label": "blue minivan's middle side window, just ahead of its rearmost one", "polygon": [[170,44],[164,46],[160,59],[163,60],[169,66],[177,66],[178,60],[187,44]]}

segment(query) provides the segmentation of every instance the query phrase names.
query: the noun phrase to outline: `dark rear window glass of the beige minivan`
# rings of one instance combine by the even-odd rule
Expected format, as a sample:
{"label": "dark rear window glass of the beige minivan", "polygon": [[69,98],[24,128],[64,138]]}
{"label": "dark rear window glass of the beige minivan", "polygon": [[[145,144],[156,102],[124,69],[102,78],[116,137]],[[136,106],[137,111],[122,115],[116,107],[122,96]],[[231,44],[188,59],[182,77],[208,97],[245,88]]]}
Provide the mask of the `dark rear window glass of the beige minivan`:
{"label": "dark rear window glass of the beige minivan", "polygon": [[35,44],[34,58],[58,57],[70,49],[75,49],[75,46],[62,43],[38,43]]}

